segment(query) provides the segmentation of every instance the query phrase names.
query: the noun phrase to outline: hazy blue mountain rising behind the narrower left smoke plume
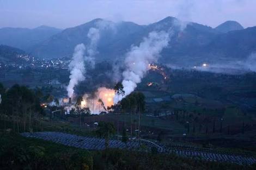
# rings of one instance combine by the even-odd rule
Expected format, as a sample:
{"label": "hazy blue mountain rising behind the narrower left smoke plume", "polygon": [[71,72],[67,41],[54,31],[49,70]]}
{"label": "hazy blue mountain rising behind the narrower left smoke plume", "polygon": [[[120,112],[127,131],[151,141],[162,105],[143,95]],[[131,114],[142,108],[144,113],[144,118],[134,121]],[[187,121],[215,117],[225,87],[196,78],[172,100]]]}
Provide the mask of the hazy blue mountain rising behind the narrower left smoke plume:
{"label": "hazy blue mountain rising behind the narrower left smoke plume", "polygon": [[33,46],[32,54],[41,58],[59,58],[71,56],[78,43],[87,45],[87,34],[90,28],[101,27],[100,41],[97,45],[100,56],[115,55],[116,52],[125,52],[134,43],[134,33],[141,32],[144,26],[132,22],[114,23],[97,18],[77,27],[68,28],[53,35],[38,45]]}

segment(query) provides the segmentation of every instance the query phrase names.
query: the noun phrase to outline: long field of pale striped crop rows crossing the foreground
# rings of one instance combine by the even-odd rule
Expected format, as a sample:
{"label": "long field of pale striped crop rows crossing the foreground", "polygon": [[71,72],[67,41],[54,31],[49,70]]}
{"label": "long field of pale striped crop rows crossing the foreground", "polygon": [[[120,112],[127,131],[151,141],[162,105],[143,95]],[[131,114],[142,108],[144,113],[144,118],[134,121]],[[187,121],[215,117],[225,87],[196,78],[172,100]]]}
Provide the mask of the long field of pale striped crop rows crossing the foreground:
{"label": "long field of pale striped crop rows crossing the foreground", "polygon": [[[105,148],[105,140],[95,137],[83,137],[59,132],[37,132],[37,133],[22,133],[25,137],[34,137],[46,141],[52,141],[56,143],[61,143],[66,146],[72,146],[77,148],[84,148],[89,150],[102,150]],[[154,143],[147,141],[141,141],[141,143],[146,144],[149,148],[157,147]],[[138,141],[129,141],[126,144],[118,140],[109,141],[110,148],[120,148],[120,149],[138,149],[140,143]],[[158,151],[161,153],[174,153],[179,156],[186,156],[193,159],[203,159],[208,161],[220,161],[220,162],[230,162],[237,163],[239,165],[252,165],[256,163],[256,158],[252,155],[239,155],[231,153],[218,153],[214,150],[200,150],[197,148],[179,148],[179,147],[157,147]]]}

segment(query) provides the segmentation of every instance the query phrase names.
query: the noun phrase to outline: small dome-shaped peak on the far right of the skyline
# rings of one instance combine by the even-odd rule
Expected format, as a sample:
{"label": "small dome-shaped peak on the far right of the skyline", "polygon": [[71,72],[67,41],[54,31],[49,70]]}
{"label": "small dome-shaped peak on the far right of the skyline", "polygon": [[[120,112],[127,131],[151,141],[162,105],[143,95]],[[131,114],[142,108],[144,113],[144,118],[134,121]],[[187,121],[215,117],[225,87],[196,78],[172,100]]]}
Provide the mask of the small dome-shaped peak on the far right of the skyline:
{"label": "small dome-shaped peak on the far right of the skyline", "polygon": [[233,30],[241,30],[244,28],[241,26],[240,23],[236,21],[226,21],[220,24],[220,26],[216,27],[215,29],[220,33],[228,33]]}

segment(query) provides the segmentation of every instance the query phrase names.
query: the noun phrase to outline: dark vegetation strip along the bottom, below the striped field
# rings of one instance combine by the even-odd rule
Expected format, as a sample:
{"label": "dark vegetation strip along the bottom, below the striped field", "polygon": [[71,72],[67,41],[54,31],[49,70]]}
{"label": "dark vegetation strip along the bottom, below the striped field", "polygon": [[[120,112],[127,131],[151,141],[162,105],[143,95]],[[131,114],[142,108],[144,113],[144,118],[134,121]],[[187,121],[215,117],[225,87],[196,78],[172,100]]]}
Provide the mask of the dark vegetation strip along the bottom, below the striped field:
{"label": "dark vegetation strip along the bottom, below the striped field", "polygon": [[1,131],[1,169],[255,169],[131,150],[84,150]]}

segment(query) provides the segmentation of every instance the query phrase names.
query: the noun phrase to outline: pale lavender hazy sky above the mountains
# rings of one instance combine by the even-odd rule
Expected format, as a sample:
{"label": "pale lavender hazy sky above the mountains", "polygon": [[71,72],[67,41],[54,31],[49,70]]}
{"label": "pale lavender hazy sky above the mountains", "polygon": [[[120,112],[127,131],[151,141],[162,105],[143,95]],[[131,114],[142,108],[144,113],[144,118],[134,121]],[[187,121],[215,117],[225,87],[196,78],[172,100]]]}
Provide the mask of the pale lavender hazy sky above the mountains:
{"label": "pale lavender hazy sky above the mountains", "polygon": [[211,27],[235,20],[256,26],[256,0],[0,0],[0,28],[74,27],[105,18],[148,24],[167,16]]}

